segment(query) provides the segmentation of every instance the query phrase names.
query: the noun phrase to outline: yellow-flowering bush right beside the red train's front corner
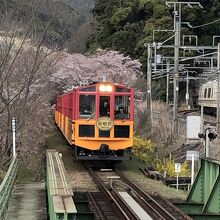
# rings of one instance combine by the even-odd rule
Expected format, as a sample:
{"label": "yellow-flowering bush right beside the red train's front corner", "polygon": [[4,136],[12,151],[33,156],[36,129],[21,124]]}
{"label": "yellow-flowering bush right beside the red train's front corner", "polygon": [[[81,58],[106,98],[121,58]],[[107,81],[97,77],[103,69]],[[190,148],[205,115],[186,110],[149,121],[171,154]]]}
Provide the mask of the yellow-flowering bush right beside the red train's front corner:
{"label": "yellow-flowering bush right beside the red train's front corner", "polygon": [[155,156],[155,144],[151,140],[135,135],[132,152],[139,160],[152,161]]}

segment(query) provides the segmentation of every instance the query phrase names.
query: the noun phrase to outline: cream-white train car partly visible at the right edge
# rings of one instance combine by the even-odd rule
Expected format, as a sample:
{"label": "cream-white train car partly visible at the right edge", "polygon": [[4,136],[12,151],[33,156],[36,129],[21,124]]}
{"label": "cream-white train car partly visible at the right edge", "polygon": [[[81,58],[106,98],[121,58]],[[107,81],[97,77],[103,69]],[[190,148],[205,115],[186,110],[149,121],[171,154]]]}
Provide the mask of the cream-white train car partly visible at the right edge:
{"label": "cream-white train car partly visible at the right edge", "polygon": [[216,80],[209,81],[199,88],[198,104],[205,108],[205,112],[216,114],[217,108],[217,86]]}

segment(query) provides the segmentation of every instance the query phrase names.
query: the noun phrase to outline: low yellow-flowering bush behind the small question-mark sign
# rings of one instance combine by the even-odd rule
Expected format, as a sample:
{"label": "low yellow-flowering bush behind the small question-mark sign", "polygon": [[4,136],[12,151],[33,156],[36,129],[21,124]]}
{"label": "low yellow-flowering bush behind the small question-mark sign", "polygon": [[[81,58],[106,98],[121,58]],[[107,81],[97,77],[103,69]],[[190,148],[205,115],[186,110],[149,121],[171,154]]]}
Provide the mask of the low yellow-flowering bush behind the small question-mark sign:
{"label": "low yellow-flowering bush behind the small question-mark sign", "polygon": [[[168,176],[176,176],[175,172],[175,161],[171,158],[164,158],[163,160],[157,160],[155,162],[156,169],[163,174],[166,172]],[[190,175],[190,169],[187,161],[181,164],[181,172],[179,173],[179,176],[189,176]]]}

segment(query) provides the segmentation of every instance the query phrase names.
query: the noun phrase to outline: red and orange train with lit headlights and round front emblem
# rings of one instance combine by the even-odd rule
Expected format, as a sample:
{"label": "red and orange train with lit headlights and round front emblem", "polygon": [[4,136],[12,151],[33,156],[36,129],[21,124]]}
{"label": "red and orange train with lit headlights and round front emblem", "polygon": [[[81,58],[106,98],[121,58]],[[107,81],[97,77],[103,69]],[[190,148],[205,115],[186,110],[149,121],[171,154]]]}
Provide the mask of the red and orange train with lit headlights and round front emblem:
{"label": "red and orange train with lit headlights and round front emblem", "polygon": [[73,89],[57,97],[55,122],[77,160],[128,160],[134,90],[107,82]]}

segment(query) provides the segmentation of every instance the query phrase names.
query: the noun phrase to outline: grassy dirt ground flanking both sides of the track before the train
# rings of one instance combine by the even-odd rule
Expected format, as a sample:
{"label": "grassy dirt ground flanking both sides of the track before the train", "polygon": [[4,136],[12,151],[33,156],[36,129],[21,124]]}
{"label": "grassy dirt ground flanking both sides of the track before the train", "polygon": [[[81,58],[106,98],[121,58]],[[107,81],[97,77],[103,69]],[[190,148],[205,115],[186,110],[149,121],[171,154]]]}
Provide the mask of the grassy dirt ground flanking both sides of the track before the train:
{"label": "grassy dirt ground flanking both sides of the track before the train", "polygon": [[[72,147],[67,144],[67,141],[57,129],[54,129],[47,137],[46,147],[47,149],[56,149],[59,153],[62,153],[63,162],[74,191],[98,191],[81,162],[74,161]],[[186,192],[182,190],[177,194],[175,189],[165,186],[162,182],[147,179],[139,171],[140,165],[140,162],[133,159],[122,162],[118,168],[123,170],[128,178],[147,192],[160,192],[161,195],[167,198],[186,198]]]}

